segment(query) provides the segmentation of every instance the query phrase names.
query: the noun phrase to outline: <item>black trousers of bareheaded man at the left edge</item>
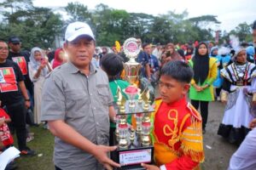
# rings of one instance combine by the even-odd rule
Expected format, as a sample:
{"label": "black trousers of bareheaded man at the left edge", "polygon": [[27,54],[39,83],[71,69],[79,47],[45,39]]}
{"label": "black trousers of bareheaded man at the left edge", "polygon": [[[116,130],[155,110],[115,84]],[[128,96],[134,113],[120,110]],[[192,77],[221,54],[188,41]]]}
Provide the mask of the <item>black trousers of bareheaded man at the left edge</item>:
{"label": "black trousers of bareheaded man at the left edge", "polygon": [[26,106],[24,100],[13,105],[6,105],[7,113],[11,118],[10,126],[14,127],[18,140],[19,150],[26,149]]}

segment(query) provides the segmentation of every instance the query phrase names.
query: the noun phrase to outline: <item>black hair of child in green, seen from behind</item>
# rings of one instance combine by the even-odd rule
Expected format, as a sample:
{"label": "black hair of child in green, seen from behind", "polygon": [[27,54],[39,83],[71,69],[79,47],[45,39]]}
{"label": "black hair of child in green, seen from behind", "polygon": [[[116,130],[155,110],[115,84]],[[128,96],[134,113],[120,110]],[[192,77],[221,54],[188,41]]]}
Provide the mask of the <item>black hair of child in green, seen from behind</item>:
{"label": "black hair of child in green, seen from behind", "polygon": [[123,59],[118,54],[106,54],[101,59],[101,65],[109,76],[118,76],[124,69]]}

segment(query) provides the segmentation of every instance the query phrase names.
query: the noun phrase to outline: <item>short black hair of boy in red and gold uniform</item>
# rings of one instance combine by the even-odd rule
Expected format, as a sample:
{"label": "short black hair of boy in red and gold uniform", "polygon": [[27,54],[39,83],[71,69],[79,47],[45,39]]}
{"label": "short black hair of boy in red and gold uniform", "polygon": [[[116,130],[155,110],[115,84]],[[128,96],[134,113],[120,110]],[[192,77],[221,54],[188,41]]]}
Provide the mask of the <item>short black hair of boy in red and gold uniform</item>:
{"label": "short black hair of boy in red and gold uniform", "polygon": [[180,60],[169,61],[160,71],[160,76],[172,77],[178,82],[189,83],[194,72],[189,65]]}

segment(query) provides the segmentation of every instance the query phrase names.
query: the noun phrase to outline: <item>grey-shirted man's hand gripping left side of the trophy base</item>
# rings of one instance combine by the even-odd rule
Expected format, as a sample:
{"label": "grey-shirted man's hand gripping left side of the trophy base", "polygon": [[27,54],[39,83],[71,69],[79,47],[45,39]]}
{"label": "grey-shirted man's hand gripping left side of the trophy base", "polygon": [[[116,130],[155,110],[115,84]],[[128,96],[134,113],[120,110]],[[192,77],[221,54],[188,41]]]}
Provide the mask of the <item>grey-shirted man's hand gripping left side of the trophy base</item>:
{"label": "grey-shirted man's hand gripping left side of the trophy base", "polygon": [[113,167],[120,167],[118,163],[108,158],[108,152],[116,150],[116,148],[116,146],[97,145],[93,155],[107,170],[112,170]]}

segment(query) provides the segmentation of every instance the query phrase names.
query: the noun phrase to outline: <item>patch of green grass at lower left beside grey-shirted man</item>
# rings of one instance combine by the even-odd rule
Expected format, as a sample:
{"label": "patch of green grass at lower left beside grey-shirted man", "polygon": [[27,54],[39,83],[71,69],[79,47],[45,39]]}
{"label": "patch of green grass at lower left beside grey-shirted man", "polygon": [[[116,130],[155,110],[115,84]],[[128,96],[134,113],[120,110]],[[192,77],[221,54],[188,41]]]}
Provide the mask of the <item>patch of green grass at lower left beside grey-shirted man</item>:
{"label": "patch of green grass at lower left beside grey-shirted man", "polygon": [[[43,127],[30,127],[32,133],[35,133],[31,142],[27,146],[36,150],[36,156],[21,156],[17,159],[19,170],[52,170],[55,169],[52,161],[54,149],[54,136],[49,130]],[[15,138],[16,139],[16,138]],[[15,144],[17,147],[17,144]],[[40,156],[41,155],[41,156]]]}

